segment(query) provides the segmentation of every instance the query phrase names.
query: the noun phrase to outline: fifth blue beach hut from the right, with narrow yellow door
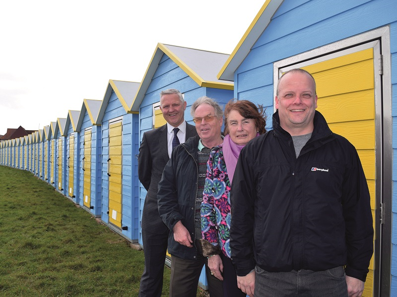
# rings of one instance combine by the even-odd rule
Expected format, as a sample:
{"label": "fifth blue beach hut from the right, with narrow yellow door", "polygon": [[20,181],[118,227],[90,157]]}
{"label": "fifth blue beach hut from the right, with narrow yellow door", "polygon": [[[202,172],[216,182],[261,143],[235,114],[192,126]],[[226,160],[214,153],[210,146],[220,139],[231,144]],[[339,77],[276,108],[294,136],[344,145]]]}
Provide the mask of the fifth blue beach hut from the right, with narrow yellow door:
{"label": "fifth blue beach hut from the right, with narrow yellow door", "polygon": [[69,110],[67,112],[65,122],[65,134],[66,134],[66,184],[67,189],[66,197],[72,200],[74,203],[78,203],[78,160],[80,142],[79,133],[76,132],[76,126],[80,111]]}

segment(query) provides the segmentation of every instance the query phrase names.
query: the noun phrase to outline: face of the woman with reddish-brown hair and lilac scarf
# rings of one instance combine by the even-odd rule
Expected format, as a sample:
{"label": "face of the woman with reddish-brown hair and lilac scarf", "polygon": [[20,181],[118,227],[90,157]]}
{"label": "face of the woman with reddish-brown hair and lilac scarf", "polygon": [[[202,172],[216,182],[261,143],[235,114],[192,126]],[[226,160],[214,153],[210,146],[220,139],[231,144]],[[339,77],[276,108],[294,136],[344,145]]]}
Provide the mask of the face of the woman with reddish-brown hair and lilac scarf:
{"label": "face of the woman with reddish-brown hair and lilac scarf", "polygon": [[245,146],[251,139],[257,136],[255,120],[244,118],[235,109],[229,112],[227,122],[230,138],[236,145]]}

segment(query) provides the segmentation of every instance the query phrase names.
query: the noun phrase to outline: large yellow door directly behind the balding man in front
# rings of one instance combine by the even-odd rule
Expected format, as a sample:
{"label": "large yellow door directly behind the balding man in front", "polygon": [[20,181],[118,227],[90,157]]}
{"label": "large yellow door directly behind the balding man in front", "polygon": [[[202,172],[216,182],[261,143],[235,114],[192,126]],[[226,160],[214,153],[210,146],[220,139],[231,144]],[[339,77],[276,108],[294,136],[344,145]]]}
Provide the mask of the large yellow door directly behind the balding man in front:
{"label": "large yellow door directly behind the balding man in front", "polygon": [[[316,80],[317,110],[324,115],[331,131],[345,137],[357,149],[370,190],[375,222],[374,49],[355,51],[301,68]],[[363,297],[373,296],[373,278],[374,257]]]}

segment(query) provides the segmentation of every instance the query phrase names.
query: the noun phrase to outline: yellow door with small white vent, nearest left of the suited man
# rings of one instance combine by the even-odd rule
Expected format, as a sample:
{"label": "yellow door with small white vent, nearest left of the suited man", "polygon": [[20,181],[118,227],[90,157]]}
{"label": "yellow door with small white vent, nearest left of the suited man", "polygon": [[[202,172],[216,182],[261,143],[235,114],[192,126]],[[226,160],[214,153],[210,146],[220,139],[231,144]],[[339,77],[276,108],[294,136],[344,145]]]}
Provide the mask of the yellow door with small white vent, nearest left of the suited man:
{"label": "yellow door with small white vent, nearest left of the suited man", "polygon": [[109,124],[109,222],[121,229],[122,220],[122,127],[121,121]]}

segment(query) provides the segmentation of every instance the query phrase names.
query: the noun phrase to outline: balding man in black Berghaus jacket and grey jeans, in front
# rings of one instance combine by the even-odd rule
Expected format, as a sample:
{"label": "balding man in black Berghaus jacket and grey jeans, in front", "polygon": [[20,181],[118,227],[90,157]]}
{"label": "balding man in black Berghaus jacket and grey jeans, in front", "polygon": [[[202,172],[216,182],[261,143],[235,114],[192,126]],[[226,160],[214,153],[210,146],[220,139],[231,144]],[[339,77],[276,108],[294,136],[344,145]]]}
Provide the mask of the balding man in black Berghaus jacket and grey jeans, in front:
{"label": "balding man in black Berghaus jacket and grey jeans, in front", "polygon": [[241,151],[230,247],[250,296],[359,297],[373,253],[370,195],[355,148],[316,111],[302,69],[278,81],[273,130]]}

